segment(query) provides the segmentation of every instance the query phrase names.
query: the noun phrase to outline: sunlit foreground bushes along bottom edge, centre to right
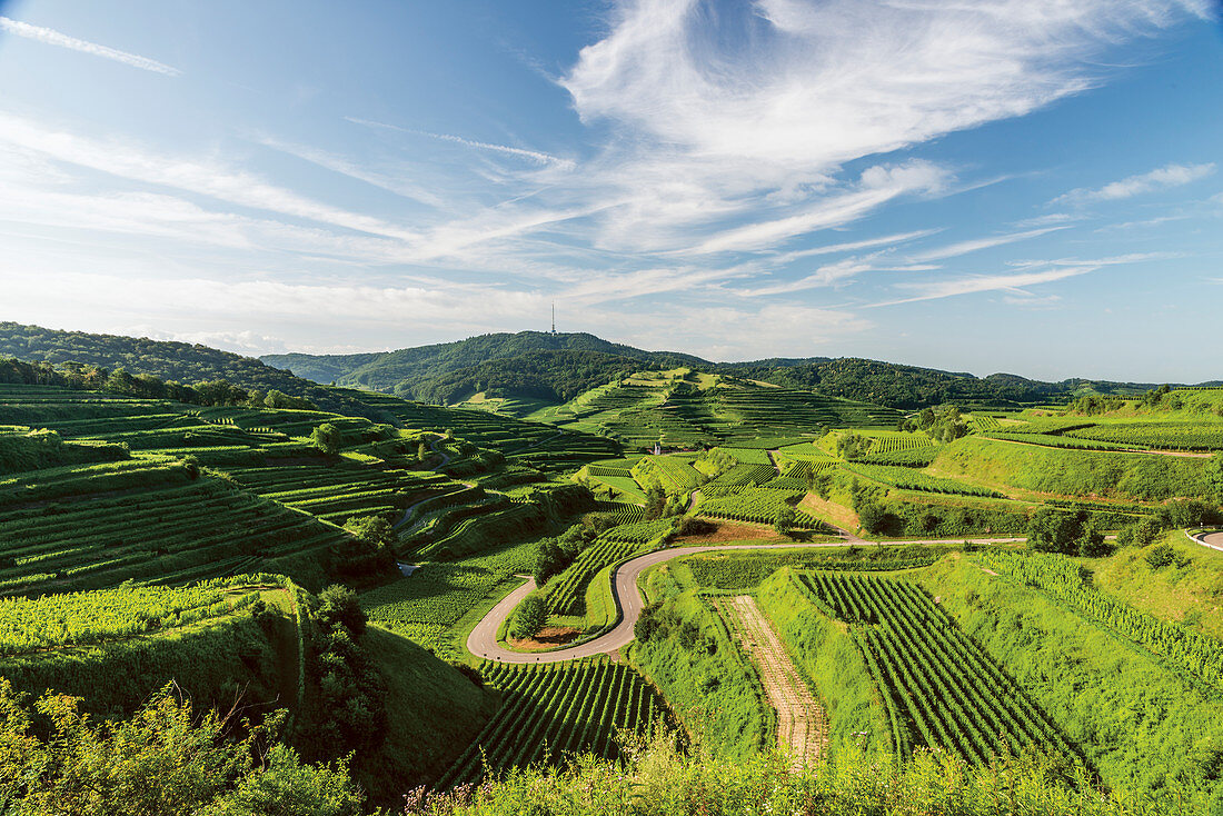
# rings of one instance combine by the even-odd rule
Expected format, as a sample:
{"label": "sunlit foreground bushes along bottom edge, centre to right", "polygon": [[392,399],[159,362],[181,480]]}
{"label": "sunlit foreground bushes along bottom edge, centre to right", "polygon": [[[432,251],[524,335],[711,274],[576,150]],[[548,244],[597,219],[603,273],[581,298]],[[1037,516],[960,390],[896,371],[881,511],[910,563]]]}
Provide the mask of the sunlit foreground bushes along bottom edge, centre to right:
{"label": "sunlit foreground bushes along bottom edge, centre to right", "polygon": [[[889,756],[845,751],[837,762],[790,771],[780,755],[747,761],[684,757],[658,739],[625,750],[625,766],[583,757],[567,771],[514,772],[500,782],[446,795],[413,792],[406,815],[428,816],[1139,816],[1213,812],[1206,803],[1161,807],[1150,798],[1104,794],[1066,779],[1038,756],[1002,759],[976,768],[948,755]],[[1216,803],[1217,805],[1218,803]]]}

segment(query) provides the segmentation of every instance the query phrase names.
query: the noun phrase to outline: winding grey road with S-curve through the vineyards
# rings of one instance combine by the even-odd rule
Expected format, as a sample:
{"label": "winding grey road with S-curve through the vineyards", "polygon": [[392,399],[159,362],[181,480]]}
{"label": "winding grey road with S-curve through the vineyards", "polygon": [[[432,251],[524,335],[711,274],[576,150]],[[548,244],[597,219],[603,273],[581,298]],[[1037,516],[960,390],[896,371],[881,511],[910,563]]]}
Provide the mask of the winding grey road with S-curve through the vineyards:
{"label": "winding grey road with S-curve through the vineyards", "polygon": [[[1027,540],[970,538],[969,541],[977,544],[1004,544]],[[903,544],[959,543],[959,541],[915,540],[866,543],[882,543],[888,547],[899,547]],[[514,608],[519,606],[519,602],[534,588],[534,579],[528,579],[522,586],[501,598],[501,601],[493,607],[493,609],[484,615],[478,624],[476,624],[476,628],[471,630],[471,635],[467,636],[467,651],[476,657],[498,661],[501,663],[559,663],[560,661],[574,661],[582,657],[605,655],[608,652],[614,652],[618,648],[623,648],[632,642],[632,628],[637,623],[637,618],[641,615],[641,608],[643,606],[641,592],[637,588],[637,579],[641,577],[641,574],[645,570],[654,566],[656,564],[669,562],[673,558],[682,558],[684,555],[693,555],[696,553],[708,553],[722,549],[806,549],[810,547],[845,546],[846,543],[843,541],[806,544],[797,542],[788,544],[707,544],[695,547],[671,547],[669,549],[658,549],[652,553],[638,555],[637,558],[621,564],[612,574],[612,593],[615,598],[616,606],[620,607],[623,613],[620,615],[620,623],[618,623],[612,631],[605,635],[600,635],[594,640],[550,652],[512,652],[497,642],[497,630],[500,629],[501,621],[505,620],[510,613],[514,612]]]}

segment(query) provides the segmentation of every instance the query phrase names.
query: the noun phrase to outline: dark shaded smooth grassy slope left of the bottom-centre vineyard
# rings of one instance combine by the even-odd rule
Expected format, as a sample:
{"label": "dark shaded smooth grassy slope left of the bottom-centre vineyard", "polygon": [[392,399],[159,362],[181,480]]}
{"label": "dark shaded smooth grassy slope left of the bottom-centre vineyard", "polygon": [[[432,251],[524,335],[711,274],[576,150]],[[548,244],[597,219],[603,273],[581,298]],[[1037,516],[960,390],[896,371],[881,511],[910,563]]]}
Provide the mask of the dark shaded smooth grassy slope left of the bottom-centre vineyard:
{"label": "dark shaded smooth grassy slope left of the bottom-centre vineyard", "polygon": [[378,754],[356,767],[375,800],[393,800],[444,773],[493,716],[497,697],[390,630],[369,626],[364,637],[386,681],[390,728]]}

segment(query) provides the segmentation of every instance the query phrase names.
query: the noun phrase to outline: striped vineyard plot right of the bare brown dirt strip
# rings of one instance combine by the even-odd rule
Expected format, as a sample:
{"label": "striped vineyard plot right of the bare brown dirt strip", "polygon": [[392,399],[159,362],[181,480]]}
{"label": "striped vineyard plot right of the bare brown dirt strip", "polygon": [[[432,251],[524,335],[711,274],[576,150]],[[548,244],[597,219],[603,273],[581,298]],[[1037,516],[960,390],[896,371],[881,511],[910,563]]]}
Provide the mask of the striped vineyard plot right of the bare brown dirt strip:
{"label": "striped vineyard plot right of the bare brown dirt strip", "polygon": [[925,745],[986,765],[1036,745],[1077,757],[1022,689],[912,584],[822,571],[795,580],[826,614],[852,626],[903,756]]}

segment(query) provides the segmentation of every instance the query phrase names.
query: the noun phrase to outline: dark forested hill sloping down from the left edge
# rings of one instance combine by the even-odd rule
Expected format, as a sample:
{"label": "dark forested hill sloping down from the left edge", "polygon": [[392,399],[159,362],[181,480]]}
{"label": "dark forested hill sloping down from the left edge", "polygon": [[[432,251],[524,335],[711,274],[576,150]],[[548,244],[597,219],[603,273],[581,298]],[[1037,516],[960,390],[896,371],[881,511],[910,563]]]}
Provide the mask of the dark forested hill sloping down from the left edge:
{"label": "dark forested hill sloping down from the left edge", "polygon": [[152,374],[187,385],[224,379],[241,388],[263,391],[275,389],[290,396],[302,396],[327,411],[350,416],[364,416],[369,412],[368,406],[341,393],[267,366],[254,357],[198,344],[60,332],[0,322],[0,357],[16,357],[27,362],[79,362],[111,372],[122,368],[130,374]]}

